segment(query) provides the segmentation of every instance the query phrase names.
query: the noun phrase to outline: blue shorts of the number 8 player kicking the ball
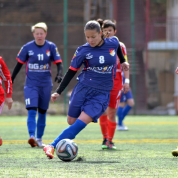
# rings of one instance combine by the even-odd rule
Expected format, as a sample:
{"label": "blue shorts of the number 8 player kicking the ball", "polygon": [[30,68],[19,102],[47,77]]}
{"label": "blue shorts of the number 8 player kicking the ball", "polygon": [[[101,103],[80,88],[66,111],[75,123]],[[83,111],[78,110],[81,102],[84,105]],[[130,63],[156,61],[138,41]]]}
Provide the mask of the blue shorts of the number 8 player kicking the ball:
{"label": "blue shorts of the number 8 player kicking the ball", "polygon": [[110,91],[100,91],[80,82],[74,87],[70,101],[68,115],[78,118],[82,111],[97,122],[109,105]]}

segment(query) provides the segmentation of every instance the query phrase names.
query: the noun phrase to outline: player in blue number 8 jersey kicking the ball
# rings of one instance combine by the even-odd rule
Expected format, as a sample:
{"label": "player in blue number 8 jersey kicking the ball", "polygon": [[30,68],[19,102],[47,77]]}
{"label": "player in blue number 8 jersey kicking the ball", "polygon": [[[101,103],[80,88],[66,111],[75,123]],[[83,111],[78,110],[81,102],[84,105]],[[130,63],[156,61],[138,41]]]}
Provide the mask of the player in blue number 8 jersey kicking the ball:
{"label": "player in blue number 8 jersey kicking the ball", "polygon": [[[122,54],[116,37],[103,38],[100,24],[89,21],[84,27],[87,43],[80,46],[71,61],[56,92],[51,95],[54,102],[66,88],[81,65],[84,68],[78,76],[78,83],[74,87],[69,104],[67,121],[69,127],[65,129],[52,143],[43,150],[49,159],[53,158],[54,148],[62,139],[74,139],[90,122],[97,122],[109,104],[110,91],[116,73],[116,56],[119,55],[122,66],[128,70],[128,64]],[[129,88],[124,88],[129,90]]]}

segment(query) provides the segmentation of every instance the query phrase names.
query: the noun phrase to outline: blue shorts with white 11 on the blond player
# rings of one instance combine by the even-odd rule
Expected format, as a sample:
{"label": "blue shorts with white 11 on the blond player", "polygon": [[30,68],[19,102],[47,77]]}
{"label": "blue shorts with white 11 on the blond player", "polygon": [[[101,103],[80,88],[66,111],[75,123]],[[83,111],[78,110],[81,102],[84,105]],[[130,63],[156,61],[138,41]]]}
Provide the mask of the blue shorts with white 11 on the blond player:
{"label": "blue shorts with white 11 on the blond player", "polygon": [[52,86],[36,87],[24,86],[24,97],[26,108],[37,107],[47,110],[51,98]]}

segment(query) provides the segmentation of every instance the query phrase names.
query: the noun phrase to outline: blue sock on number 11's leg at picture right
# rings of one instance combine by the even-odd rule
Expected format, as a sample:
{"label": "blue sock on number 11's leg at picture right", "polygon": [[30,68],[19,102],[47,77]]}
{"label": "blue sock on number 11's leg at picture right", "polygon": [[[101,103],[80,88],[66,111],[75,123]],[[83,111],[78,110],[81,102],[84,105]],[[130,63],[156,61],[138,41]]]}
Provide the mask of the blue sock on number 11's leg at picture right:
{"label": "blue sock on number 11's leg at picture right", "polygon": [[46,126],[46,113],[41,114],[38,112],[37,138],[42,138],[42,136],[44,134],[45,126]]}

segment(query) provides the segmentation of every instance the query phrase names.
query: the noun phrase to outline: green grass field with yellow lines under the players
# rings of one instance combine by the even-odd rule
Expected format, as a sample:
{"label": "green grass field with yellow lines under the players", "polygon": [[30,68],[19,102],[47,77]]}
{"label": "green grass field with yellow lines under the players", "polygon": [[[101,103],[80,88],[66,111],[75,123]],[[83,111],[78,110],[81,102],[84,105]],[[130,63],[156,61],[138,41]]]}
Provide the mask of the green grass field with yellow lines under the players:
{"label": "green grass field with yellow lines under the players", "polygon": [[[27,144],[26,116],[1,116],[0,177],[178,177],[177,116],[127,116],[129,131],[117,131],[117,150],[101,150],[99,124],[89,124],[77,135],[78,156],[62,162],[48,160],[41,148]],[[65,116],[48,116],[43,140],[50,143],[66,127]]]}

